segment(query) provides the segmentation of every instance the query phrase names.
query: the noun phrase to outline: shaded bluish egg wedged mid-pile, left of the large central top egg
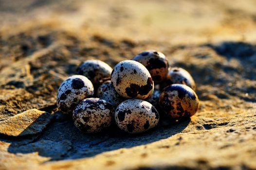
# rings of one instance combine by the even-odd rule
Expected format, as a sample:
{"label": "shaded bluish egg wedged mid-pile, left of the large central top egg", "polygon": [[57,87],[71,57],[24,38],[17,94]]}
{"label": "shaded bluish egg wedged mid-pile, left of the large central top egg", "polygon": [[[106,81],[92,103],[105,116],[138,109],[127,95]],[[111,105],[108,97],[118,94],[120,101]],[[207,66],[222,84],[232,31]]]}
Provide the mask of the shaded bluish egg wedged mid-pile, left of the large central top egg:
{"label": "shaded bluish egg wedged mid-pile, left of the large central top egg", "polygon": [[110,102],[114,108],[126,100],[115,91],[110,80],[99,86],[96,96],[100,99],[104,99],[105,101]]}

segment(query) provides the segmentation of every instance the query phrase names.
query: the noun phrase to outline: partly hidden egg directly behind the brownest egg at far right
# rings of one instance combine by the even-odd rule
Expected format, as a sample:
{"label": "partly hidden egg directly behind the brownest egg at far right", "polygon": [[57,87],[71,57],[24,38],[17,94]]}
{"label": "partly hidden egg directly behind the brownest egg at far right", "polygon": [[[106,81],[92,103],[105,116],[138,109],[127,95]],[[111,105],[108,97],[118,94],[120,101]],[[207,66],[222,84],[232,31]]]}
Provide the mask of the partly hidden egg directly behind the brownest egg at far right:
{"label": "partly hidden egg directly behind the brownest egg at far right", "polygon": [[165,86],[172,84],[187,85],[193,90],[196,90],[196,84],[193,77],[183,68],[171,68],[168,71]]}

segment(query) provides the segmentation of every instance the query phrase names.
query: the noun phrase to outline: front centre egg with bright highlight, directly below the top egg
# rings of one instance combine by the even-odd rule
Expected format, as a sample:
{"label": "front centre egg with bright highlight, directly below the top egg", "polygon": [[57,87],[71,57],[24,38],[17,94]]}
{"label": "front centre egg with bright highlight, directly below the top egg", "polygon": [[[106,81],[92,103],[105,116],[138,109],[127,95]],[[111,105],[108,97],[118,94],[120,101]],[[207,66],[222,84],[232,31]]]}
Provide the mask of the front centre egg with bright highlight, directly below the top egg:
{"label": "front centre egg with bright highlight, directly below the top egg", "polygon": [[141,99],[128,99],[115,110],[115,122],[125,132],[136,134],[145,132],[157,125],[159,114],[149,102]]}

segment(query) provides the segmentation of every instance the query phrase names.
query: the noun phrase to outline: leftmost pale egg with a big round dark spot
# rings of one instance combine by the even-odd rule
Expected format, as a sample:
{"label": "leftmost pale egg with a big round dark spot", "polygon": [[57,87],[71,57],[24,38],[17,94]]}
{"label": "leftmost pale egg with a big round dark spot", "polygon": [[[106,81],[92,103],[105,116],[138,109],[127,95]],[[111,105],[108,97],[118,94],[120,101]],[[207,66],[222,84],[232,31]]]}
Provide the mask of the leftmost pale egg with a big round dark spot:
{"label": "leftmost pale egg with a big round dark spot", "polygon": [[62,82],[57,94],[57,107],[63,114],[72,114],[76,104],[94,92],[91,81],[82,75],[73,75]]}

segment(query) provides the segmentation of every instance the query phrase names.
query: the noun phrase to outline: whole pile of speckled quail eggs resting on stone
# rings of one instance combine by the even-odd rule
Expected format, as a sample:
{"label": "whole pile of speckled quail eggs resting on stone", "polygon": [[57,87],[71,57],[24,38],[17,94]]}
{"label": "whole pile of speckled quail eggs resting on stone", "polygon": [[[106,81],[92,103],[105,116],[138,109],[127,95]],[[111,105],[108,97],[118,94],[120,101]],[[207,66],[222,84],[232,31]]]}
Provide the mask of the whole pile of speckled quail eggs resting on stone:
{"label": "whole pile of speckled quail eggs resting on stone", "polygon": [[100,60],[83,62],[77,75],[60,85],[56,103],[82,132],[97,133],[115,122],[135,134],[155,127],[159,111],[173,120],[194,115],[199,105],[195,88],[185,69],[170,68],[163,53],[150,50],[113,69]]}

